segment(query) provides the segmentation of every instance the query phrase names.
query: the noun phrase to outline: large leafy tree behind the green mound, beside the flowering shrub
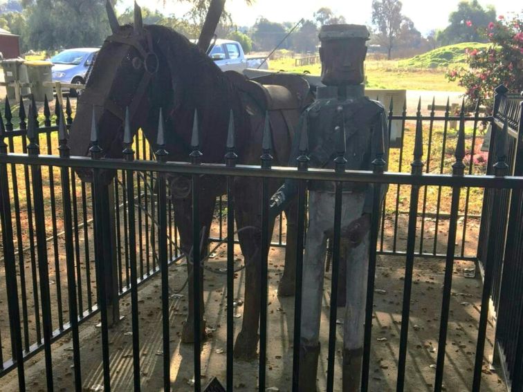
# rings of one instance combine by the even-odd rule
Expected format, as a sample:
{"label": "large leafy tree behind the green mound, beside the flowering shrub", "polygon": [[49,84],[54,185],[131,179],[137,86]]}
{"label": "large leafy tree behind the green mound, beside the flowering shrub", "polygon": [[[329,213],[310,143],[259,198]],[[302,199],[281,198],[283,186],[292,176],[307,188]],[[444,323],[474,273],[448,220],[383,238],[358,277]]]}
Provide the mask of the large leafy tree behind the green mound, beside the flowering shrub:
{"label": "large leafy tree behind the green mound, beside the flowering shrub", "polygon": [[487,37],[481,30],[496,19],[493,6],[481,7],[477,0],[461,1],[457,10],[450,12],[449,26],[438,35],[442,45],[459,44],[460,42],[486,42]]}

